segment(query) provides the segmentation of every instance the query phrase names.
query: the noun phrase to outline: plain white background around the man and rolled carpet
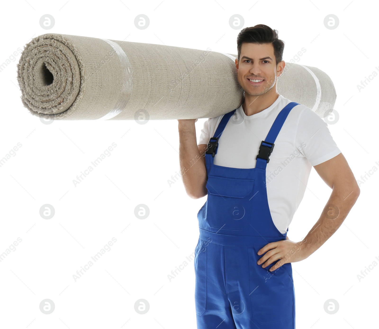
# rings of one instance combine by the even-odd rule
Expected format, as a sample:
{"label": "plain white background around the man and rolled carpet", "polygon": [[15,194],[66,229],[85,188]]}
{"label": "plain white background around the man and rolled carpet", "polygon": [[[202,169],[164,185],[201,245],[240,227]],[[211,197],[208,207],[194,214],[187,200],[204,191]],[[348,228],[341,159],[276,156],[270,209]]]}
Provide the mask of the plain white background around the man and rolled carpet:
{"label": "plain white background around the man and rolled carpet", "polygon": [[[233,14],[244,17],[243,27],[269,25],[285,41],[285,61],[305,47],[297,63],[321,69],[334,82],[340,119],[329,129],[356,179],[379,168],[379,77],[357,88],[379,73],[377,3],[28,0],[2,3],[2,12],[1,63],[32,37],[50,32],[237,54],[240,30],[229,26]],[[51,30],[39,25],[44,14],[55,18]],[[139,14],[150,19],[145,30],[134,25]],[[329,14],[340,20],[334,30],[324,27]],[[43,124],[22,106],[19,58],[0,72],[0,158],[22,144],[0,167],[0,253],[22,239],[0,262],[0,327],[195,328],[194,267],[186,257],[194,252],[196,214],[206,197],[189,198],[181,180],[168,184],[180,171],[177,120]],[[196,123],[197,138],[205,120]],[[111,155],[75,187],[73,179],[113,142]],[[357,274],[379,264],[378,177],[374,172],[360,184],[360,197],[337,232],[292,264],[298,328],[377,325],[379,267],[360,282]],[[313,168],[307,187],[289,227],[293,241],[307,235],[331,193]],[[39,214],[45,204],[55,209],[52,219]],[[139,204],[150,209],[144,220],[134,214]],[[110,251],[75,282],[76,271],[113,237]],[[184,261],[188,266],[170,282],[168,274]],[[39,309],[44,299],[55,304],[49,315]],[[139,299],[149,303],[144,315],[135,311]],[[324,310],[329,299],[339,305],[333,315]]]}

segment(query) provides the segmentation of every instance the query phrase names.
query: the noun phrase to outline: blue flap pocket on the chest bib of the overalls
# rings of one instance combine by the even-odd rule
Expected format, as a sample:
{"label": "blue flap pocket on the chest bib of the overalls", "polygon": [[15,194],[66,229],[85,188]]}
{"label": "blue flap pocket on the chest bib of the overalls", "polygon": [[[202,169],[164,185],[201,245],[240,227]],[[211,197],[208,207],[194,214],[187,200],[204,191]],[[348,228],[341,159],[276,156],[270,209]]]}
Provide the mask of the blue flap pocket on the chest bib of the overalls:
{"label": "blue flap pocket on the chest bib of the overalls", "polygon": [[249,223],[254,179],[208,175],[207,222],[211,228],[241,231]]}

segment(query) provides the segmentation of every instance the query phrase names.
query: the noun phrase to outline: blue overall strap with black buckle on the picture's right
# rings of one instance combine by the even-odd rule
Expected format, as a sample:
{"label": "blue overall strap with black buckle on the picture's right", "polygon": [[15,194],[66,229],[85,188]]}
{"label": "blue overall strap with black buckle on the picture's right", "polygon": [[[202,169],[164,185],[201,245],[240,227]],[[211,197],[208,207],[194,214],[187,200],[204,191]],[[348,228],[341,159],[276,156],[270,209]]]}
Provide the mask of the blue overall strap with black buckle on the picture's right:
{"label": "blue overall strap with black buckle on the picture's right", "polygon": [[296,105],[299,105],[299,103],[290,102],[277,115],[273,125],[270,128],[270,131],[266,136],[266,139],[262,140],[262,143],[259,146],[259,153],[255,158],[257,159],[255,168],[261,168],[266,170],[266,166],[270,161],[269,156],[274,148],[274,142],[276,140],[276,137],[279,134],[280,129],[282,129],[283,123],[287,119],[288,114]]}

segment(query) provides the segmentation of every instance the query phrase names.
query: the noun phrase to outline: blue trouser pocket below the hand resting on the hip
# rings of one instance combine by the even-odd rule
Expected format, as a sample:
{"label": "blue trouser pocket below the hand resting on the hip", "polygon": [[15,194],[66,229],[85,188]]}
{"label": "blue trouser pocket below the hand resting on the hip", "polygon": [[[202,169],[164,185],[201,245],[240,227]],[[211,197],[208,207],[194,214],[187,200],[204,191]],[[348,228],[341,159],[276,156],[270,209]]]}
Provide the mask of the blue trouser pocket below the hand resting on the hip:
{"label": "blue trouser pocket below the hand resting on the hip", "polygon": [[257,252],[262,247],[248,247],[252,315],[260,324],[274,324],[293,317],[293,280],[287,269],[283,268],[291,264],[283,264],[273,272],[269,269],[277,261],[262,268],[262,264],[257,264],[258,259],[262,257]]}

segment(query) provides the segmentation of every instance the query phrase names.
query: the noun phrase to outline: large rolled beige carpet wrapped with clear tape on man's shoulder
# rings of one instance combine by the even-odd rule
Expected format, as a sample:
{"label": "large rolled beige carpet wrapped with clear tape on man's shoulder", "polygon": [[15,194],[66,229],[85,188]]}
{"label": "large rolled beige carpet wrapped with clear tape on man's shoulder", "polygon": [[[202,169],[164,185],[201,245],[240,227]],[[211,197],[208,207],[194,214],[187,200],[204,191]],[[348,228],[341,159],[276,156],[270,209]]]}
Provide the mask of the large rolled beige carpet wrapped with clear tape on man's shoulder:
{"label": "large rolled beige carpet wrapped with clear tape on man's shoulder", "polygon": [[[52,120],[210,118],[244,101],[236,55],[48,33],[33,38],[17,64],[21,100]],[[333,109],[329,76],[286,63],[277,90],[321,117]]]}

